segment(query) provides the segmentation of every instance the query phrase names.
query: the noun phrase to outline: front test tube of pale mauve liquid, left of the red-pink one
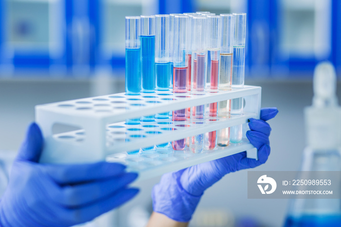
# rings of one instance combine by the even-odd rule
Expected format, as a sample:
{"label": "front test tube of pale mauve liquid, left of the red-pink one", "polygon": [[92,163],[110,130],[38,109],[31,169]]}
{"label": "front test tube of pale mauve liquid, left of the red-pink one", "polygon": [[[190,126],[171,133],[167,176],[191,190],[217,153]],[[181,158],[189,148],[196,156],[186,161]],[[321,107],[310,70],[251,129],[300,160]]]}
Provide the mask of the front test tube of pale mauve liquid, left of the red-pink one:
{"label": "front test tube of pale mauve liquid, left of the red-pink one", "polygon": [[[191,37],[192,62],[191,62],[191,83],[190,92],[193,95],[205,94],[206,85],[206,65],[207,65],[207,45],[206,26],[207,18],[196,16],[191,19],[193,33]],[[194,106],[191,109],[190,120],[193,124],[203,124],[205,115],[205,105]],[[192,136],[189,149],[199,153],[204,149],[204,134]]]}

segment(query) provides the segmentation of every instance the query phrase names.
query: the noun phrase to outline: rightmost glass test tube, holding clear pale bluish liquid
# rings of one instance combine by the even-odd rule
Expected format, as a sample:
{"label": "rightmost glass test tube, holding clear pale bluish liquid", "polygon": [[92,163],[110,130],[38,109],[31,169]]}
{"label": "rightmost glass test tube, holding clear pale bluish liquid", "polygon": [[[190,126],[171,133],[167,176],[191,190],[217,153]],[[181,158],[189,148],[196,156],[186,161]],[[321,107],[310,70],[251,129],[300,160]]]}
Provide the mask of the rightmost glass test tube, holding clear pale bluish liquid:
{"label": "rightmost glass test tube, holding clear pale bluish liquid", "polygon": [[[233,14],[233,64],[232,88],[244,87],[245,72],[245,43],[246,43],[246,14]],[[234,98],[231,102],[231,115],[243,114],[244,98]],[[230,129],[230,141],[239,143],[243,137],[243,125],[233,126]]]}

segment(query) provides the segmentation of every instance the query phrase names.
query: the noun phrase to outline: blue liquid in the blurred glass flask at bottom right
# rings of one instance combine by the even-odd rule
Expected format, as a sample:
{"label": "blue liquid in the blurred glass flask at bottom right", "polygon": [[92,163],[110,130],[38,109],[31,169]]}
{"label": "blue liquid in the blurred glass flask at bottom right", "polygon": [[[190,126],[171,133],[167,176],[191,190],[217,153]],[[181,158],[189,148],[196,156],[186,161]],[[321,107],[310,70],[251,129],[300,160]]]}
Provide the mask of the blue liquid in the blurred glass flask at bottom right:
{"label": "blue liquid in the blurred glass flask at bottom right", "polygon": [[340,227],[341,215],[304,215],[300,218],[288,217],[284,227]]}

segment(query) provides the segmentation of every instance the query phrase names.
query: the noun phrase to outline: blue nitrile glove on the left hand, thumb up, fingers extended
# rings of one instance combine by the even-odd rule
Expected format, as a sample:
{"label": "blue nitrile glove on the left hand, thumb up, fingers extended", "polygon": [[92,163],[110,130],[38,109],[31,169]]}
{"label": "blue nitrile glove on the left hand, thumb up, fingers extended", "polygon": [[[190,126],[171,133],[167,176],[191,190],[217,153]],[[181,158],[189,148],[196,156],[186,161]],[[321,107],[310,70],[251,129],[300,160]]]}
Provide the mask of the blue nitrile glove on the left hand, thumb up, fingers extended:
{"label": "blue nitrile glove on the left hand, thumb up, fingers extended", "polygon": [[[136,173],[117,163],[39,164],[43,138],[37,124],[13,163],[0,200],[1,227],[67,227],[91,221],[133,198]],[[95,152],[95,151],[94,151]]]}

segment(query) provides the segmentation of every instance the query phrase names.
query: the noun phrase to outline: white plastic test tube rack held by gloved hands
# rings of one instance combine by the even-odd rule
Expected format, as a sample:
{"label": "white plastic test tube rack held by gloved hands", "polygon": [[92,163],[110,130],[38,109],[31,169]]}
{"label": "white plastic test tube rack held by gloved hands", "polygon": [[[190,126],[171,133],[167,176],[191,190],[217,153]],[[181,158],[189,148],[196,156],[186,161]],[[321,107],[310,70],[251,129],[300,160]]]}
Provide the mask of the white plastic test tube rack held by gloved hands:
{"label": "white plastic test tube rack held by gloved hands", "polygon": [[[189,121],[156,119],[127,125],[127,119],[186,109],[192,106],[244,97],[244,114],[229,118],[206,119],[204,124]],[[189,166],[211,161],[235,153],[247,152],[247,157],[257,158],[257,150],[249,143],[245,133],[247,119],[259,119],[261,87],[245,86],[242,89],[219,91],[205,95],[171,92],[155,94],[102,95],[36,106],[36,122],[45,140],[40,162],[42,163],[87,163],[96,161],[120,162],[128,170],[139,172],[139,179],[181,170]],[[75,126],[80,130],[53,133],[55,124]],[[193,135],[216,131],[243,124],[243,140],[230,143],[227,147],[217,146],[214,150],[201,153],[173,151],[156,148],[138,154],[127,154],[155,144],[187,138]],[[183,126],[186,127],[183,127]],[[137,136],[138,135],[138,136]]]}

